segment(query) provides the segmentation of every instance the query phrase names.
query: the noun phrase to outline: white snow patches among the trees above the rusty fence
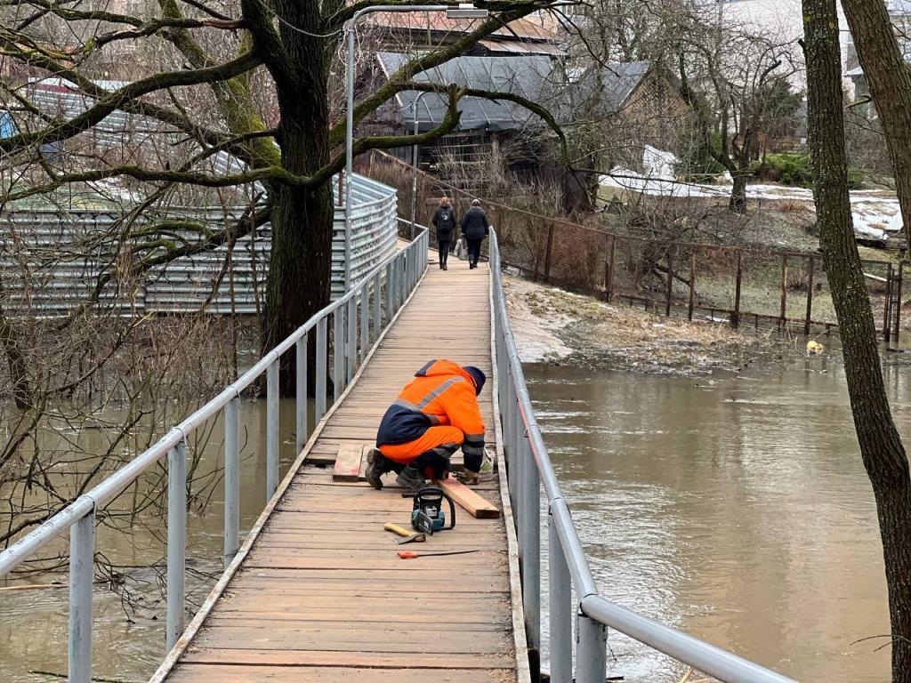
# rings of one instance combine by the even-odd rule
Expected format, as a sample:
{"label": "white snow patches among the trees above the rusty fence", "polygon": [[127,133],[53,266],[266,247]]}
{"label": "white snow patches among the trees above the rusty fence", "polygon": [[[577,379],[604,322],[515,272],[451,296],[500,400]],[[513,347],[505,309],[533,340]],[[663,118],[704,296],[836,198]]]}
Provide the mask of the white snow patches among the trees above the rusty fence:
{"label": "white snow patches among the trees above the rusty fence", "polygon": [[[608,175],[601,176],[601,186],[653,197],[725,198],[731,194],[730,181],[702,185],[674,179],[676,158],[670,152],[647,147],[642,161],[645,173],[637,173],[629,168],[613,168]],[[747,199],[797,201],[814,210],[813,191],[804,188],[750,185],[747,188]],[[897,234],[902,229],[898,198],[893,193],[878,189],[856,190],[851,193],[851,208],[855,234],[860,239],[885,241],[890,234]]]}

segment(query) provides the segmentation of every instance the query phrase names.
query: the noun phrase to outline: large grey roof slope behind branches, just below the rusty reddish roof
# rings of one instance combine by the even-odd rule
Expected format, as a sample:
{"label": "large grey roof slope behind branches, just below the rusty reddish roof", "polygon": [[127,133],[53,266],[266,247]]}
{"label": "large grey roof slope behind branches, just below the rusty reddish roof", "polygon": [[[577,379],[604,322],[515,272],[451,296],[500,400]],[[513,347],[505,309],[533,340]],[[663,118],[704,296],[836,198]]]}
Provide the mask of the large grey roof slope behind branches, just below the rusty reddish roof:
{"label": "large grey roof slope behind branches, just below the rusty reddish roof", "polygon": [[[397,52],[380,52],[377,58],[389,76],[411,57]],[[537,101],[551,68],[548,56],[462,56],[421,72],[415,76],[415,81],[511,93]],[[409,130],[414,126],[417,100],[418,129],[430,130],[443,121],[447,98],[425,93],[418,100],[418,95],[416,90],[399,93],[405,126]],[[462,112],[459,130],[510,130],[524,126],[532,117],[531,112],[514,102],[483,97],[463,97],[458,108]]]}

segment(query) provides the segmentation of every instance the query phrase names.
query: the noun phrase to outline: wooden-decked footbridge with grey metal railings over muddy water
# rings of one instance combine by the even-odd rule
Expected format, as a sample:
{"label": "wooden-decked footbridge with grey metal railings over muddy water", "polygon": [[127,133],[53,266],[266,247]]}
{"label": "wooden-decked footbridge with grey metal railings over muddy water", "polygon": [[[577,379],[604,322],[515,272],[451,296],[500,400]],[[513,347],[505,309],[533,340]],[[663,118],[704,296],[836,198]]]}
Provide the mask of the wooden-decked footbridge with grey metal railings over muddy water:
{"label": "wooden-decked footbridge with grey metal railings over muddy water", "polygon": [[[550,464],[510,331],[491,234],[488,264],[428,268],[429,235],[357,281],[146,452],[0,554],[0,576],[69,535],[68,679],[92,679],[97,517],[149,468],[168,470],[167,628],[154,683],[440,680],[603,683],[609,629],[723,681],[780,674],[641,617],[600,593]],[[279,363],[296,361],[298,456],[279,468]],[[361,454],[384,408],[431,358],[476,365],[492,479],[474,486],[496,515],[457,510],[455,529],[395,545],[411,501],[363,483]],[[241,393],[266,378],[265,507],[240,527]],[[330,378],[332,382],[330,382]],[[307,387],[315,386],[308,411]],[[224,573],[185,623],[187,443],[224,424]],[[457,464],[457,463],[456,463]],[[466,502],[466,508],[472,508]],[[547,544],[542,582],[542,538]],[[471,551],[403,559],[397,551]],[[546,623],[542,624],[542,584]]]}

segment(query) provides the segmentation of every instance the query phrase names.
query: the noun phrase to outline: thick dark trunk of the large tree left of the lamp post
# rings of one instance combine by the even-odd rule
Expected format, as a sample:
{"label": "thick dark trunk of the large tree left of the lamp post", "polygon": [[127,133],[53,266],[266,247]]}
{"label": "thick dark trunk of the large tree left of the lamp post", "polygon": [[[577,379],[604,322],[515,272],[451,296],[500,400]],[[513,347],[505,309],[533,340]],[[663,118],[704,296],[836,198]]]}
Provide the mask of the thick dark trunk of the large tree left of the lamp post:
{"label": "thick dark trunk of the large tree left of the lamp post", "polygon": [[[322,50],[295,60],[291,82],[278,89],[281,164],[309,175],[329,162],[328,68]],[[330,300],[333,193],[330,183],[312,189],[272,183],[271,260],[266,288],[262,350],[268,352]],[[314,346],[313,344],[311,346]],[[314,357],[310,352],[311,359]],[[294,354],[281,363],[281,394],[294,393]]]}

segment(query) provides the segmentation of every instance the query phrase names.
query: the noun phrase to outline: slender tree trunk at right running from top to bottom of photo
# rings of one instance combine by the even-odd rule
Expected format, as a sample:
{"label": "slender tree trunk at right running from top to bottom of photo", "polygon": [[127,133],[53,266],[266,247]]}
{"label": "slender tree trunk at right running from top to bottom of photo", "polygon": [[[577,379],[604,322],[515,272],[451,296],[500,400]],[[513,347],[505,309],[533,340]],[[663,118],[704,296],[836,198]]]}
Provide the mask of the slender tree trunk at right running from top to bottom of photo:
{"label": "slender tree trunk at right running from top to bottom of photo", "polygon": [[852,226],[835,0],[803,2],[816,214],[857,440],[879,516],[892,625],[892,676],[896,683],[906,683],[911,681],[911,479],[885,394],[875,321]]}

